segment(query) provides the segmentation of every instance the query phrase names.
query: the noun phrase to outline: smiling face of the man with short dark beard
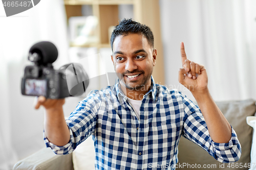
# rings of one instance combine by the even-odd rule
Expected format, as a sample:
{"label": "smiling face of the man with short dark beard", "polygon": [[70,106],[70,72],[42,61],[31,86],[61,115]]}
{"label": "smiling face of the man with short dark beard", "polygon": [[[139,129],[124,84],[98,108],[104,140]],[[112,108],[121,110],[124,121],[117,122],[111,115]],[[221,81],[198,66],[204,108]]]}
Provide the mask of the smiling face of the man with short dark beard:
{"label": "smiling face of the man with short dark beard", "polygon": [[137,90],[151,85],[156,50],[141,34],[117,36],[111,58],[120,83],[126,89]]}

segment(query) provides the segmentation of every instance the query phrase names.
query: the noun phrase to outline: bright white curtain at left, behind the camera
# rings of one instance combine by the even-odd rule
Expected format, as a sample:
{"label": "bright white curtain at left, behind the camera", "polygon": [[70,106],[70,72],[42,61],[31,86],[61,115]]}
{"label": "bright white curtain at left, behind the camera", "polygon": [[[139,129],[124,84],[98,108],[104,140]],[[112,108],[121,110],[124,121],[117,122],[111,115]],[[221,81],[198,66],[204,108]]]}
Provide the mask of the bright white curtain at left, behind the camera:
{"label": "bright white curtain at left, behind the camera", "polygon": [[45,147],[42,139],[43,110],[33,109],[34,98],[23,96],[20,80],[30,47],[53,42],[59,52],[54,66],[68,62],[65,6],[62,0],[40,1],[35,7],[4,17],[0,9],[0,169],[12,169],[22,158]]}

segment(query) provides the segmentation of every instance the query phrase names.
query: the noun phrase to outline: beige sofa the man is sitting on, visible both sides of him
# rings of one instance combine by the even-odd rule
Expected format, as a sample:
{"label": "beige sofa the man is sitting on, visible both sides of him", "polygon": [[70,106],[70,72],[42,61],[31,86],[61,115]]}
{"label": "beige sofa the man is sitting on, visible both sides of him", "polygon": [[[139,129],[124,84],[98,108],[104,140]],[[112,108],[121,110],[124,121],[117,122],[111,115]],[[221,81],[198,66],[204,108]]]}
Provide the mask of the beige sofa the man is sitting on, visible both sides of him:
{"label": "beige sofa the man is sitting on, visible both sides of him", "polygon": [[[216,103],[232,128],[237,132],[242,148],[240,160],[234,163],[220,163],[197,144],[181,137],[178,153],[178,164],[180,166],[177,166],[176,169],[249,169],[248,163],[251,162],[250,151],[253,128],[247,125],[246,117],[255,115],[255,101],[249,99],[243,101],[225,101]],[[72,154],[55,155],[50,148],[45,148],[23,160],[18,161],[14,165],[13,169],[95,169],[92,137],[89,137],[87,140],[82,142]]]}

